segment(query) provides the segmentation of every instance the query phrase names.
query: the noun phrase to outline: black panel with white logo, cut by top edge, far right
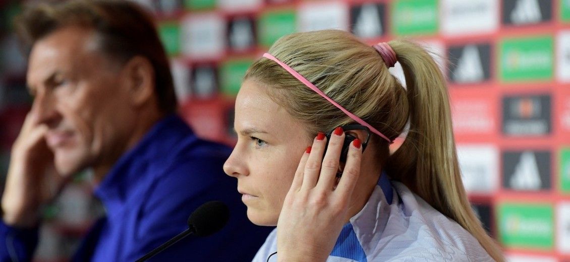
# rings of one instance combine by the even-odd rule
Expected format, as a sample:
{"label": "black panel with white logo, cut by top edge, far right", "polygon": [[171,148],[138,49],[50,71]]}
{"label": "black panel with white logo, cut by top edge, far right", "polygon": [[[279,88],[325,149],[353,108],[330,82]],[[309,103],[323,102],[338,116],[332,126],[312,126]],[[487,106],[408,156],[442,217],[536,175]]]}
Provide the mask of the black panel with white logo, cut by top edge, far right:
{"label": "black panel with white logo, cut by top edge, far right", "polygon": [[504,24],[536,24],[552,19],[552,0],[504,0]]}

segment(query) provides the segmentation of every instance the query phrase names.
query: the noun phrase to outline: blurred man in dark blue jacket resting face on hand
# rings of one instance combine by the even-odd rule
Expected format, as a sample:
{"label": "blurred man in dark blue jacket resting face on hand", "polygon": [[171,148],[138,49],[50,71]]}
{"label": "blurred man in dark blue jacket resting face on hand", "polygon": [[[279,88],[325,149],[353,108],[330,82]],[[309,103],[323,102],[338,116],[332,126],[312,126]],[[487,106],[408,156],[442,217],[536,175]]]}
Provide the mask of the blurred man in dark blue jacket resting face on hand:
{"label": "blurred man in dark blue jacket resting face on hand", "polygon": [[229,204],[227,226],[156,259],[251,260],[271,228],[247,220],[222,170],[230,150],[197,138],[176,115],[150,15],[131,2],[80,0],[30,7],[16,27],[29,51],[34,104],[12,149],[0,260],[31,259],[40,207],[87,167],[107,214],[74,260],[134,261],[185,230],[190,212],[213,199]]}

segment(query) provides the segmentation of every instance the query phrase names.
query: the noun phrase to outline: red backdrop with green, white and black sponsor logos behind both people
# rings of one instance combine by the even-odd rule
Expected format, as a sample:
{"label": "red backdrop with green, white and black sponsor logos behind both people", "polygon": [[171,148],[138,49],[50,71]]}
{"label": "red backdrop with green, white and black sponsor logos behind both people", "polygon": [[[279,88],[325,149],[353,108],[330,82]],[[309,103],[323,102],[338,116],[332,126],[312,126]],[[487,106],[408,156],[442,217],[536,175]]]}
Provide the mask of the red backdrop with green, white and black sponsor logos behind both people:
{"label": "red backdrop with green, white and black sponsor logos behind both people", "polygon": [[[198,134],[227,144],[235,142],[242,77],[280,36],[339,28],[370,44],[398,37],[425,44],[449,83],[463,182],[484,227],[511,261],[570,261],[570,0],[137,2],[156,15],[182,114]],[[29,103],[13,84],[23,67],[3,71],[5,97],[21,101],[0,110],[10,127],[4,168]],[[398,65],[393,74],[404,81]],[[94,208],[88,199],[78,204],[88,192],[81,185],[69,193],[74,200],[63,197],[47,212],[56,226],[44,231],[64,240],[44,238],[40,260],[72,252],[66,239],[89,224]],[[80,222],[62,222],[69,216]],[[50,258],[50,244],[67,248]]]}

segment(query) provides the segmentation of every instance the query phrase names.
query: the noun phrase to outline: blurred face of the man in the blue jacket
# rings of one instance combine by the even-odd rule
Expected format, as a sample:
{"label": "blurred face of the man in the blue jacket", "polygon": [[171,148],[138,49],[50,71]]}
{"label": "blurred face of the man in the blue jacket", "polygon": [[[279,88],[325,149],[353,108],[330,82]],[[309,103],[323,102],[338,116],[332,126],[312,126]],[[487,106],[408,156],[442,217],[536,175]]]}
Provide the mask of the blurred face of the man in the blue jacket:
{"label": "blurred face of the man in the blue jacket", "polygon": [[85,28],[60,28],[34,44],[28,61],[31,113],[48,127],[46,144],[66,176],[112,165],[107,162],[123,153],[133,126],[125,73],[101,54],[94,36]]}

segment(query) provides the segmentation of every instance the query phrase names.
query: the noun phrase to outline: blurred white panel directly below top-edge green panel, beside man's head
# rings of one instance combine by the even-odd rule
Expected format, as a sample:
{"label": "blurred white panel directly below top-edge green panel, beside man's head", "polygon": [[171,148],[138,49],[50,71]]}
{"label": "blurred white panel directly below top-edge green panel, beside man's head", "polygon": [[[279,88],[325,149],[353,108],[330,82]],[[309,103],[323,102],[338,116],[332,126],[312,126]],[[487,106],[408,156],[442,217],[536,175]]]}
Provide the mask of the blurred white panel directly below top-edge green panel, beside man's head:
{"label": "blurred white panel directly below top-edge green panel, beside man's head", "polygon": [[225,22],[216,14],[182,19],[182,52],[190,58],[215,58],[225,51]]}

